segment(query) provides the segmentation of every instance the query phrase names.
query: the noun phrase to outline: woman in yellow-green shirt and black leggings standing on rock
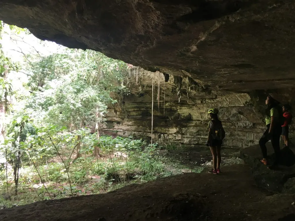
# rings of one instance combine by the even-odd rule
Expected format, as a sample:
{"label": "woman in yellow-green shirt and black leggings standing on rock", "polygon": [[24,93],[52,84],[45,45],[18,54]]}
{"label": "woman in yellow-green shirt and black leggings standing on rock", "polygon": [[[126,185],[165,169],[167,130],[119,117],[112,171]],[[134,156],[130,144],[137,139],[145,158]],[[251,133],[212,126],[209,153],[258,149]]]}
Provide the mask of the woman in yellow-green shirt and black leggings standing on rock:
{"label": "woman in yellow-green shirt and black leggings standing on rock", "polygon": [[[261,162],[265,165],[268,164],[267,161],[267,149],[266,149],[266,143],[271,140],[271,144],[273,146],[274,152],[275,152],[275,162],[273,166],[278,165],[279,156],[280,156],[280,136],[282,133],[282,127],[280,123],[280,116],[282,115],[281,108],[279,105],[278,98],[275,95],[269,94],[266,98],[265,104],[267,105],[266,108],[266,116],[265,116],[265,122],[266,122],[266,131],[263,133],[262,137],[259,140],[259,146],[262,151],[263,159]],[[270,169],[272,167],[269,167]]]}

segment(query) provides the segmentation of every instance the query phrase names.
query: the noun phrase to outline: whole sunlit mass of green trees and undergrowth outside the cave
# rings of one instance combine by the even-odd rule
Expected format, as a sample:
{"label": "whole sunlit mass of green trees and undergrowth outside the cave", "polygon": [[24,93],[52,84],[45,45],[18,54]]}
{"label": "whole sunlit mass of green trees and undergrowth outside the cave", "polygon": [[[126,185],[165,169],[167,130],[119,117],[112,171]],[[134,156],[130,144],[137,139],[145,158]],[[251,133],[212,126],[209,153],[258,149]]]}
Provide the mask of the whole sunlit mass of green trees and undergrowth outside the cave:
{"label": "whole sunlit mass of green trees and undergrowth outside the cave", "polygon": [[[15,35],[26,32],[9,28]],[[157,144],[99,136],[108,105],[129,93],[126,63],[91,50],[63,48],[46,56],[21,51],[25,65],[19,67],[0,48],[2,98],[16,94],[4,74],[21,70],[27,77],[0,147],[0,156],[7,155],[0,165],[0,208],[167,176]]]}

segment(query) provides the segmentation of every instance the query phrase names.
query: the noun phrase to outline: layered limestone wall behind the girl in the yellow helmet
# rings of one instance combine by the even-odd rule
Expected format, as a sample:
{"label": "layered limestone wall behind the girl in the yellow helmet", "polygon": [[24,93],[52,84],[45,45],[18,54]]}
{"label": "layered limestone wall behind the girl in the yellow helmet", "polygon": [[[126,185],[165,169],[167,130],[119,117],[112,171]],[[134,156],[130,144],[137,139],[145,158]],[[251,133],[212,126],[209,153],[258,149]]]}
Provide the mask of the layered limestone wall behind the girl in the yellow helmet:
{"label": "layered limestone wall behind the girl in the yellow helmet", "polygon": [[[209,91],[187,78],[182,79],[179,91],[179,80],[170,76],[165,82],[164,104],[164,75],[136,72],[131,73],[125,82],[130,87],[130,94],[109,108],[104,133],[150,140],[154,75],[154,141],[160,144],[205,144],[209,122],[207,111],[216,107],[226,131],[224,145],[244,148],[258,143],[265,123],[263,115],[253,105],[255,96],[251,100],[247,93]],[[263,102],[261,99],[260,103]]]}

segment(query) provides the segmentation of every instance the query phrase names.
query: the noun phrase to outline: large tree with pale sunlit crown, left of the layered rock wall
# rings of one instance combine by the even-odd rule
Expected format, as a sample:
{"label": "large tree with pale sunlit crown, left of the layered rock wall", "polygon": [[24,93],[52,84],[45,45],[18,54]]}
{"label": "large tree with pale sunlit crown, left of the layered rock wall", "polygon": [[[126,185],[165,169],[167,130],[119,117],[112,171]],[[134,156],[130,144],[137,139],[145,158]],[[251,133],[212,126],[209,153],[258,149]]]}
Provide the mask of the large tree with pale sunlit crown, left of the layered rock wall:
{"label": "large tree with pale sunlit crown, left of the layered rock wall", "polygon": [[[68,49],[30,62],[27,69],[32,90],[27,108],[42,115],[43,122],[67,126],[70,131],[95,127],[98,139],[107,105],[117,102],[111,93],[127,91],[123,84],[127,65],[90,50]],[[79,158],[81,136],[76,139]],[[100,156],[99,146],[94,154]]]}

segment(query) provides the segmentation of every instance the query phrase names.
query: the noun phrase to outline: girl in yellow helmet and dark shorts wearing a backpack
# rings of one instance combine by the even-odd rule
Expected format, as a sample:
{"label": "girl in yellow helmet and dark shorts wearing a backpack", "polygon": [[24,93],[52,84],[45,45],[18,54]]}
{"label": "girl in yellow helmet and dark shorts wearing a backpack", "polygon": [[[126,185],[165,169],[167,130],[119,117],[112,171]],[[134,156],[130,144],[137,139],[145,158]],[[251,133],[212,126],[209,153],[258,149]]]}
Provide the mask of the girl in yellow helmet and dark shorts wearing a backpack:
{"label": "girl in yellow helmet and dark shorts wearing a backpack", "polygon": [[[210,147],[212,157],[213,157],[213,169],[209,171],[212,174],[219,174],[220,173],[220,163],[221,163],[221,145],[222,145],[222,138],[218,135],[218,131],[222,128],[222,123],[218,119],[218,110],[216,108],[211,108],[208,111],[210,115],[210,122],[208,125],[209,133],[208,133],[208,140],[207,146]],[[222,128],[223,130],[223,128]]]}

